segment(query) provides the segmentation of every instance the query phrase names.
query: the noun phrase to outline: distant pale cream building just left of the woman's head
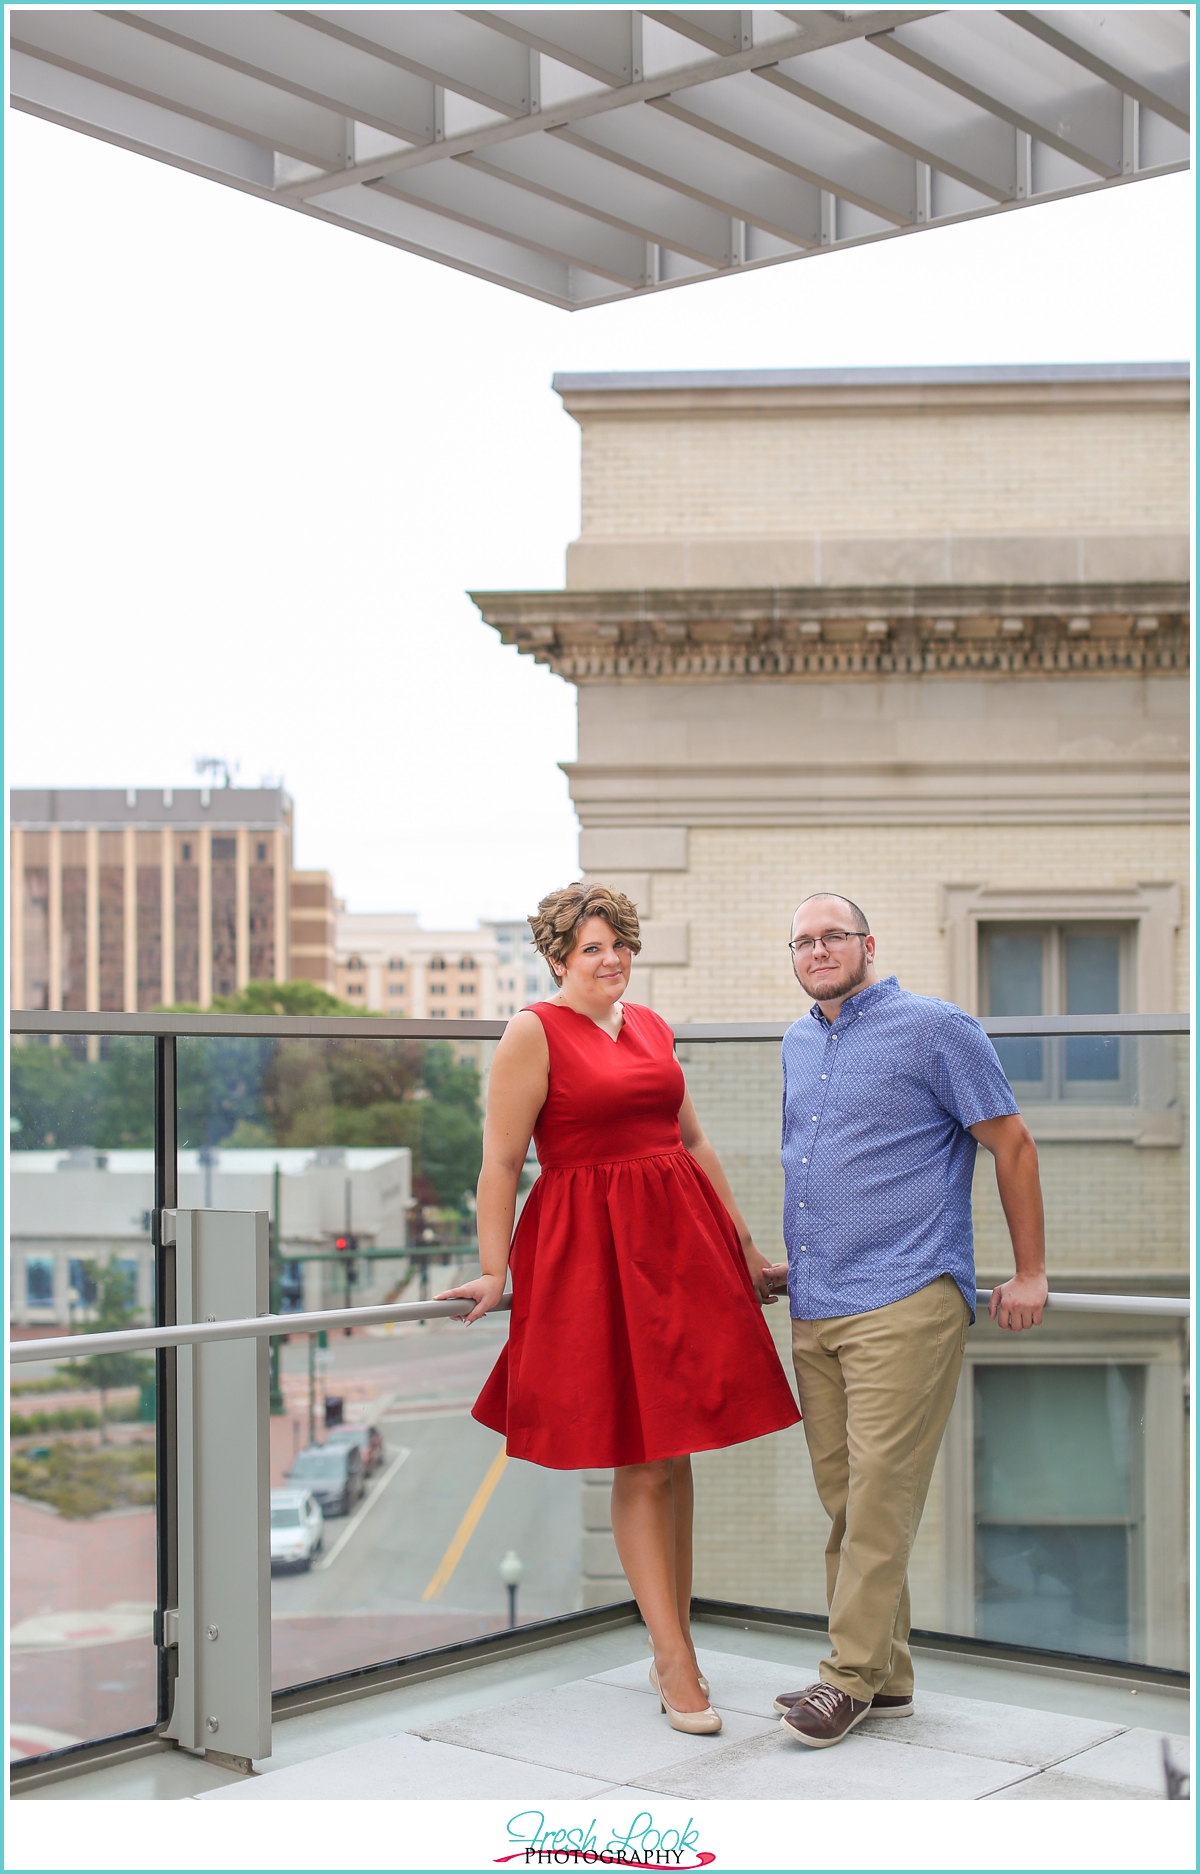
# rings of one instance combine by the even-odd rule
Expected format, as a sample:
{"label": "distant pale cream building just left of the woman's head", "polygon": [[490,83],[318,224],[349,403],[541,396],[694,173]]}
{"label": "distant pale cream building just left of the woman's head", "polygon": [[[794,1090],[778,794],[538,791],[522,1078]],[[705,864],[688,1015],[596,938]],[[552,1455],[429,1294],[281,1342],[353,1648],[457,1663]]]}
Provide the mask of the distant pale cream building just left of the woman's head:
{"label": "distant pale cream building just left of the woman's head", "polygon": [[497,1016],[491,928],[424,931],[412,911],[338,911],[338,995],[377,1014],[420,1019]]}

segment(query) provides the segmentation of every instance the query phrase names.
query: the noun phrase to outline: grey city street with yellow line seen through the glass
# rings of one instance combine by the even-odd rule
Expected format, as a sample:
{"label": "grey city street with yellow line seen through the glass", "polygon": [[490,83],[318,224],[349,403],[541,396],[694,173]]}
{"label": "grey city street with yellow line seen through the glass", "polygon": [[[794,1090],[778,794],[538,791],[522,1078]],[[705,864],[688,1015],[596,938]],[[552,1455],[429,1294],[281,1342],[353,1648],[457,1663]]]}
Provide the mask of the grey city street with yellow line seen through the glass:
{"label": "grey city street with yellow line seen through the glass", "polygon": [[[497,1464],[502,1441],[469,1415],[504,1334],[501,1319],[330,1342],[324,1391],[379,1422],[386,1456],[354,1514],[328,1520],[313,1569],[272,1580],[276,1685],[506,1625],[508,1550],[525,1563],[518,1619],[579,1604],[578,1473]],[[306,1437],[308,1344],[283,1349],[283,1385]]]}

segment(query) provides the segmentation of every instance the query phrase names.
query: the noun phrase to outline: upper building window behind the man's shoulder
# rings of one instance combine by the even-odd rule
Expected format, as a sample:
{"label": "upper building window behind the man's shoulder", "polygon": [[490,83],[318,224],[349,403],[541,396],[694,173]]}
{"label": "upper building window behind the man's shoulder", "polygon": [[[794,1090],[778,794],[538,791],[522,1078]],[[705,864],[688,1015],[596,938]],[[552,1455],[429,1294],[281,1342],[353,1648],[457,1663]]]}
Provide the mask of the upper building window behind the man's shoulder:
{"label": "upper building window behind the man's shoulder", "polygon": [[[1131,924],[981,924],[988,1016],[1119,1016],[1131,1006]],[[996,1036],[1018,1100],[1131,1100],[1134,1049],[1104,1034]]]}

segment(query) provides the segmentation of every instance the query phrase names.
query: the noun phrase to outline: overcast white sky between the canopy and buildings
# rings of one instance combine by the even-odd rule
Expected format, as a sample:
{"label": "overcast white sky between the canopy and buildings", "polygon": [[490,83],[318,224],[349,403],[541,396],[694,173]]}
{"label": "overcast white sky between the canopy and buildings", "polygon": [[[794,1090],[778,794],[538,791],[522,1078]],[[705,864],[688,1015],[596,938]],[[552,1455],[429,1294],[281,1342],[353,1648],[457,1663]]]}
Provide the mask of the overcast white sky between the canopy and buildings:
{"label": "overcast white sky between the canopy and buildings", "polygon": [[553,371],[1185,358],[1191,178],[561,313],[9,112],[9,785],[279,780],[354,911],[576,875]]}

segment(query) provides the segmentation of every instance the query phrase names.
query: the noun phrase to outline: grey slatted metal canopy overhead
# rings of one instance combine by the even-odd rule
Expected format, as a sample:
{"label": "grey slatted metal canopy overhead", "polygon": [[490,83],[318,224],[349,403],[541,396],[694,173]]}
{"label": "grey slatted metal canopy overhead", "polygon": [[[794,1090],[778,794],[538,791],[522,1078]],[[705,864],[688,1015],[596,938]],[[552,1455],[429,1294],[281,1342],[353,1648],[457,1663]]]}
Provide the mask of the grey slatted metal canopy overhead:
{"label": "grey slatted metal canopy overhead", "polygon": [[9,22],[17,109],[568,309],[1189,161],[1181,7]]}

